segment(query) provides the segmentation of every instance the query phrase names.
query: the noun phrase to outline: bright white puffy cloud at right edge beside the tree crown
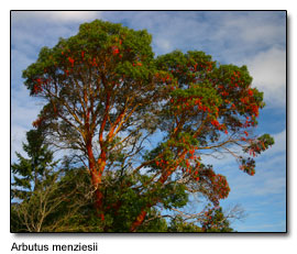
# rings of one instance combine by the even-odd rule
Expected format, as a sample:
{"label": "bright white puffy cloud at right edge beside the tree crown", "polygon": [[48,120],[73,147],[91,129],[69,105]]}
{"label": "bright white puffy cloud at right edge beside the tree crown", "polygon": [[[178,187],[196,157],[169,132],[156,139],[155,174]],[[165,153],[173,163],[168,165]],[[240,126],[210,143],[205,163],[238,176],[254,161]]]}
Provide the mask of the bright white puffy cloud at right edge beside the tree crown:
{"label": "bright white puffy cloud at right edge beside the tree crown", "polygon": [[264,91],[268,107],[286,103],[286,51],[278,47],[261,52],[246,62],[253,85]]}

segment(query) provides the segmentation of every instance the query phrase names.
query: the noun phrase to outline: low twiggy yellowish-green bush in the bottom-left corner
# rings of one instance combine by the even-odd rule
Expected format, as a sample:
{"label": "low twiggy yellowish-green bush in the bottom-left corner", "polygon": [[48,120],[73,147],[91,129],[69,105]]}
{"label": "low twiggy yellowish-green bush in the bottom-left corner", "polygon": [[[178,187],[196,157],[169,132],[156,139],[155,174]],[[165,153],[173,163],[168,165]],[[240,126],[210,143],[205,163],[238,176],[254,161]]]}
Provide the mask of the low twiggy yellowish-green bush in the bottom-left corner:
{"label": "low twiggy yellowish-green bush in the bottom-left corner", "polygon": [[[11,206],[12,232],[89,232],[100,230],[89,223],[92,189],[86,170],[58,170]],[[86,213],[87,211],[87,213]],[[88,221],[86,223],[85,221]],[[102,231],[102,230],[101,230]]]}

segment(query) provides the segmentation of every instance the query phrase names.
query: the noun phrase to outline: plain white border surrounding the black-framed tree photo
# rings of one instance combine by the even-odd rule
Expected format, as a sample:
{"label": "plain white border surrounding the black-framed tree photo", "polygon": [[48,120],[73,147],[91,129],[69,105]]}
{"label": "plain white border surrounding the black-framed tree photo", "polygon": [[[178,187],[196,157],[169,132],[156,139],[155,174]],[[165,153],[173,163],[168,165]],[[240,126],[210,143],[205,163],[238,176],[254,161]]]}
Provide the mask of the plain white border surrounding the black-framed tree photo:
{"label": "plain white border surrounding the black-framed tree photo", "polygon": [[[9,253],[13,242],[21,244],[92,244],[98,242],[102,254],[118,253],[293,253],[297,250],[296,232],[296,14],[294,1],[6,1],[1,2],[1,241],[0,250]],[[243,3],[242,3],[243,2]],[[81,4],[84,3],[84,4]],[[287,170],[288,170],[288,233],[287,234],[11,234],[10,233],[10,10],[287,10],[288,31],[288,108],[287,108]],[[295,31],[295,33],[294,33]],[[18,253],[18,252],[11,252]],[[29,252],[25,252],[29,253]],[[32,252],[31,252],[32,253]],[[35,253],[35,252],[34,252]],[[52,253],[38,252],[38,253]],[[64,252],[66,253],[66,252]],[[94,252],[77,252],[94,253]]]}

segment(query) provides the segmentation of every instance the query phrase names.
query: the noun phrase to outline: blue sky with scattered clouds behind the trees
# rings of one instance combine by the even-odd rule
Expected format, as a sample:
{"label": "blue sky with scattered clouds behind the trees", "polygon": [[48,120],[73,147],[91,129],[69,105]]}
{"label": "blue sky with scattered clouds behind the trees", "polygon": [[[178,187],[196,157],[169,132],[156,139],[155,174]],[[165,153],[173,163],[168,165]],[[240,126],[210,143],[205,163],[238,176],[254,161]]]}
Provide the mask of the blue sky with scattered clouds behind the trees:
{"label": "blue sky with scattered clouds behind the trees", "polygon": [[95,19],[146,29],[156,55],[174,49],[204,51],[221,64],[248,65],[253,86],[264,91],[255,133],[270,133],[275,145],[256,159],[256,174],[249,176],[224,157],[212,159],[227,176],[231,192],[223,208],[240,203],[248,217],[232,225],[240,232],[286,230],[286,15],[279,11],[185,12],[12,12],[11,16],[11,155],[22,150],[25,132],[42,107],[29,97],[22,70],[36,60],[42,46],[77,33],[82,22]]}

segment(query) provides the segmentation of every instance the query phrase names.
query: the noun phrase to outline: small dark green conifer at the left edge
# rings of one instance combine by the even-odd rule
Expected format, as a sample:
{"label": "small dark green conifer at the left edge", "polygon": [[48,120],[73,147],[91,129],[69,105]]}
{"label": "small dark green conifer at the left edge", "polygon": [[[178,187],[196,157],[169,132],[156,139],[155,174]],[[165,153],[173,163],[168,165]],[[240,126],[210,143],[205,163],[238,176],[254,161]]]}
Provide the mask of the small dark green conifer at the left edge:
{"label": "small dark green conifer at the left edge", "polygon": [[[29,131],[26,133],[26,144],[23,143],[23,150],[28,158],[15,153],[19,163],[11,165],[13,173],[11,198],[15,201],[11,207],[11,228],[16,231],[40,231],[42,225],[40,222],[44,219],[43,212],[40,213],[40,210],[37,211],[40,219],[36,220],[33,216],[35,209],[30,209],[32,207],[31,203],[36,199],[36,194],[42,194],[43,197],[47,196],[46,190],[56,177],[54,167],[57,162],[53,162],[53,152],[44,144],[41,129]],[[40,200],[43,199],[40,198]],[[37,202],[36,206],[41,203]],[[32,223],[29,222],[29,218],[32,218]]]}

